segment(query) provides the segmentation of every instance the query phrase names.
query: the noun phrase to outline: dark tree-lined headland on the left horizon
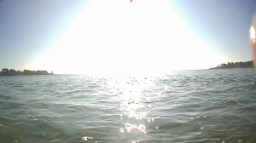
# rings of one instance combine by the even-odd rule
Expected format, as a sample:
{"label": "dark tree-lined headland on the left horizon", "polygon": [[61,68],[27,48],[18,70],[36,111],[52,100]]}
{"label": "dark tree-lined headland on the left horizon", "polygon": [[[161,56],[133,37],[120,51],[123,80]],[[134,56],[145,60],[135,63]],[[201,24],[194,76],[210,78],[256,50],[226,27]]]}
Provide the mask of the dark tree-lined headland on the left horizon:
{"label": "dark tree-lined headland on the left horizon", "polygon": [[53,72],[48,73],[47,71],[30,71],[24,70],[23,72],[15,71],[14,69],[3,68],[0,72],[0,76],[25,76],[25,75],[52,75]]}

